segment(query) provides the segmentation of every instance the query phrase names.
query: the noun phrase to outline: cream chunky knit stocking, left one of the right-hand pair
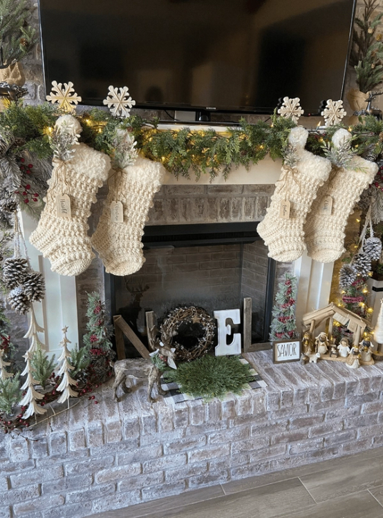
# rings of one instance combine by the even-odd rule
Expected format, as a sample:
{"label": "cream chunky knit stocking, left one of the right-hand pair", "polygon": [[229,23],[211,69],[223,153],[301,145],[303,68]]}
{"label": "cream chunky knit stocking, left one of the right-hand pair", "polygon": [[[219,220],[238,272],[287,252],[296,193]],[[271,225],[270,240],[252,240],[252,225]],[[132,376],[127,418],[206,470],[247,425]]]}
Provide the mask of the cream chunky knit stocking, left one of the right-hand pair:
{"label": "cream chunky knit stocking, left one of the right-hand pair", "polygon": [[[307,137],[308,131],[301,126],[290,131],[288,142],[295,149],[295,166],[283,166],[270,207],[257,229],[269,248],[268,256],[277,261],[288,262],[302,255],[306,215],[331,169],[329,160],[305,150]],[[288,210],[283,214],[286,200],[290,202],[290,215]]]}

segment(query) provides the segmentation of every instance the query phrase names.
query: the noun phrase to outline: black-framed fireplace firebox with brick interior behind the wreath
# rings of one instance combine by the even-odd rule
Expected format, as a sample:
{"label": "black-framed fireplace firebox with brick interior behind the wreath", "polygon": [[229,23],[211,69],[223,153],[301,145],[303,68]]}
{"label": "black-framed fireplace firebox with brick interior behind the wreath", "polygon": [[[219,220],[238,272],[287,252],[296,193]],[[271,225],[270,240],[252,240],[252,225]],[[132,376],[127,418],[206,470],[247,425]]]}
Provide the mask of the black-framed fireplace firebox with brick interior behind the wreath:
{"label": "black-framed fireplace firebox with brick interior behind the wreath", "polygon": [[256,223],[147,227],[143,242],[140,271],[106,275],[106,288],[112,314],[122,315],[144,343],[146,311],[161,318],[194,305],[213,316],[241,309],[245,297],[252,298],[252,343],[268,342],[275,263]]}

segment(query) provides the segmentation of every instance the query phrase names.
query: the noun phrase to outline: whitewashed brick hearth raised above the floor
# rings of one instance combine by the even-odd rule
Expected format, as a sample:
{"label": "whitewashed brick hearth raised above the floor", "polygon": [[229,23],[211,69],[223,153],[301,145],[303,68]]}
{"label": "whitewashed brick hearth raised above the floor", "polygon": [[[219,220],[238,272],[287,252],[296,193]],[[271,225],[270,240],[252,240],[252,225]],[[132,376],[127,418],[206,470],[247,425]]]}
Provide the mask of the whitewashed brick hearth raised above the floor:
{"label": "whitewashed brick hearth raised above the floor", "polygon": [[277,471],[383,443],[383,365],[273,365],[248,354],[265,389],[209,403],[150,405],[145,387],[96,399],[0,437],[0,517],[63,518]]}

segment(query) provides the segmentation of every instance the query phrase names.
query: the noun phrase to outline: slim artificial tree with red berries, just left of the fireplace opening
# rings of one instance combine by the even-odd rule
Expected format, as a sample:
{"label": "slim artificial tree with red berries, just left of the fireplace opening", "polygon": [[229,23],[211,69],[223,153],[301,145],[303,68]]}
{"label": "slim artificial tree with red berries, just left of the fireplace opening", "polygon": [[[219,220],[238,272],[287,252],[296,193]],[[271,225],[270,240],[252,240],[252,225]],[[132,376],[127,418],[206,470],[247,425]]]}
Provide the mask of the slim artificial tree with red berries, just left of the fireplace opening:
{"label": "slim artificial tree with red berries, just left of the fireplace opening", "polygon": [[111,376],[109,362],[114,356],[111,336],[111,325],[108,324],[109,316],[106,313],[105,303],[102,302],[99,293],[93,291],[88,294],[88,333],[84,336],[84,346],[88,351],[90,365],[88,367],[88,381],[102,383]]}

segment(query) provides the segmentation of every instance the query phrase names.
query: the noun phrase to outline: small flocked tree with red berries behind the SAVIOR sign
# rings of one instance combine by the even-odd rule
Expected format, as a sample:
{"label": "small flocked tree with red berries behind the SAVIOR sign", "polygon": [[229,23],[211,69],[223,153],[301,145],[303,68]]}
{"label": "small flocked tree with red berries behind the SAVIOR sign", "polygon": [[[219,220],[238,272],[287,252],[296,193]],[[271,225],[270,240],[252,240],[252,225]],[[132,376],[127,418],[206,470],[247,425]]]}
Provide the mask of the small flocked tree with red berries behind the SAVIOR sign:
{"label": "small flocked tree with red berries behind the SAVIOR sign", "polygon": [[270,341],[293,340],[297,338],[295,324],[295,303],[297,296],[297,278],[286,272],[285,278],[278,285],[275,305],[272,309]]}

